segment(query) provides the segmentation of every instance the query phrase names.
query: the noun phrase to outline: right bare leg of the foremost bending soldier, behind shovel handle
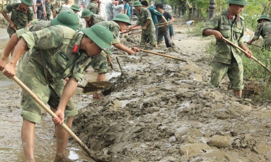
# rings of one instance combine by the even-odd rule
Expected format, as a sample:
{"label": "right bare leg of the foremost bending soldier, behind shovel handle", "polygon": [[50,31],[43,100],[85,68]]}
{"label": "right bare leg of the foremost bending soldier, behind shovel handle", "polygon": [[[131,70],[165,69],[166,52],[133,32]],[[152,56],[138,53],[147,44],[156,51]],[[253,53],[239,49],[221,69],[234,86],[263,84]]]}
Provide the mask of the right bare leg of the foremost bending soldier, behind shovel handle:
{"label": "right bare leg of the foremost bending soldier, behind shovel handle", "polygon": [[[73,124],[73,117],[68,117],[66,125],[71,128]],[[66,157],[66,146],[69,140],[69,133],[67,133],[60,125],[56,127],[56,157],[55,162],[73,161]]]}

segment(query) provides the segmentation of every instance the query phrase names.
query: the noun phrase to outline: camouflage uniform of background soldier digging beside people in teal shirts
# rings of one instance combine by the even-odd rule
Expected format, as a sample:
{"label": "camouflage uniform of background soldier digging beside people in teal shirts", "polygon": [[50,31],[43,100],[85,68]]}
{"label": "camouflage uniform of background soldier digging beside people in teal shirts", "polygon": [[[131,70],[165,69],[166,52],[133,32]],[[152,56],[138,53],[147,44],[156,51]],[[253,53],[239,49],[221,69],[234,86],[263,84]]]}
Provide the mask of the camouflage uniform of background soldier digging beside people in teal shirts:
{"label": "camouflage uniform of background soldier digging beside people in teal shirts", "polygon": [[141,8],[141,11],[137,11],[137,14],[138,14],[137,24],[141,25],[141,27],[144,27],[148,19],[151,20],[146,30],[142,30],[140,43],[145,44],[147,39],[149,39],[151,42],[151,45],[157,44],[156,35],[155,35],[155,27],[152,22],[150,11],[147,8]]}

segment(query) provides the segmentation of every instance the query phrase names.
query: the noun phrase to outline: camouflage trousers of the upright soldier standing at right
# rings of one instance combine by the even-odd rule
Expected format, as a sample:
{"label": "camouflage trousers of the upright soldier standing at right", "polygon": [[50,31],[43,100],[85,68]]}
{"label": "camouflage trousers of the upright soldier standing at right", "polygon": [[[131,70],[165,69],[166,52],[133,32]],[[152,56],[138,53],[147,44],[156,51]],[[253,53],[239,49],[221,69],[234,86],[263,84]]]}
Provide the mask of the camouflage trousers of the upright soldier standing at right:
{"label": "camouflage trousers of the upright soldier standing at right", "polygon": [[243,84],[243,64],[237,63],[233,57],[231,64],[225,64],[217,61],[212,62],[212,72],[210,83],[218,87],[220,81],[228,74],[232,83],[231,89],[241,90],[244,88]]}

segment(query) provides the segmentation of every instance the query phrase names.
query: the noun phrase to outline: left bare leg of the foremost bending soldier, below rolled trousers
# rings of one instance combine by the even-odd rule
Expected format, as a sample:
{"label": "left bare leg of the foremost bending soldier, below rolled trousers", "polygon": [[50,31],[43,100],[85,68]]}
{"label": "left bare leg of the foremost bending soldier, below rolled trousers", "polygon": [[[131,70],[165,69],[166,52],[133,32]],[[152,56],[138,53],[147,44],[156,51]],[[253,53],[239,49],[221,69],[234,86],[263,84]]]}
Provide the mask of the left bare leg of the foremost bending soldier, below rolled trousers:
{"label": "left bare leg of the foremost bending soldier, below rolled trousers", "polygon": [[35,123],[28,120],[23,120],[21,126],[21,142],[22,148],[27,162],[33,162],[34,159],[34,144],[35,144]]}

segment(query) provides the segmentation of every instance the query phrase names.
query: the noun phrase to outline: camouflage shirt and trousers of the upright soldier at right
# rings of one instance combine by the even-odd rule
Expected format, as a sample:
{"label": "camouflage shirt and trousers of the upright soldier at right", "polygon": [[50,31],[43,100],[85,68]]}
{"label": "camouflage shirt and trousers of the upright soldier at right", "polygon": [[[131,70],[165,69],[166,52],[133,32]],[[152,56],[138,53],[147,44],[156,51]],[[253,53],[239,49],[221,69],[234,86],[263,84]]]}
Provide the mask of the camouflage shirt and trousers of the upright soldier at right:
{"label": "camouflage shirt and trousers of the upright soldier at right", "polygon": [[[217,13],[213,16],[204,27],[202,35],[206,29],[219,31],[224,38],[233,43],[240,45],[244,42],[244,19],[237,15],[232,18],[228,10]],[[215,54],[212,64],[210,83],[217,87],[223,77],[228,74],[232,83],[233,90],[243,89],[243,65],[242,53],[224,40],[217,40],[215,45]]]}

